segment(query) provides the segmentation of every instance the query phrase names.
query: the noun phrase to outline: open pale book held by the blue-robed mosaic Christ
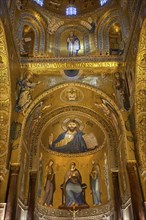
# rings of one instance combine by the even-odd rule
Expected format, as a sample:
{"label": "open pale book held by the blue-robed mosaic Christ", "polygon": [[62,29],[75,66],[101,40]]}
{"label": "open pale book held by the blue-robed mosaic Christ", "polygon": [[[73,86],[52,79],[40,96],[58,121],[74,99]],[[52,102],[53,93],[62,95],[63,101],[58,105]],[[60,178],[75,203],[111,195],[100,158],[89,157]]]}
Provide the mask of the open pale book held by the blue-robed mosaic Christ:
{"label": "open pale book held by the blue-robed mosaic Christ", "polygon": [[93,133],[83,135],[84,141],[87,145],[87,148],[93,150],[98,146],[97,139]]}

